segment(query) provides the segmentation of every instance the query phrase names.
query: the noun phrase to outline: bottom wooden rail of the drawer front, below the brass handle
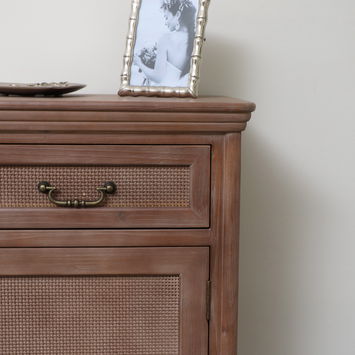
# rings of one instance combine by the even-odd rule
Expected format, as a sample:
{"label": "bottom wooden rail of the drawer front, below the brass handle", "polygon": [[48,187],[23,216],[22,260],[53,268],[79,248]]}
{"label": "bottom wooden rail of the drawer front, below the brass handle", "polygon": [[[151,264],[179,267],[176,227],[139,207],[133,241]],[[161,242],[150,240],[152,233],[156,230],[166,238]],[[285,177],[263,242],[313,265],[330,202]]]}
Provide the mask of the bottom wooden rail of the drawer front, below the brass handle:
{"label": "bottom wooden rail of the drawer front, below the brass handle", "polygon": [[208,218],[186,208],[0,209],[0,229],[208,228],[208,226]]}

